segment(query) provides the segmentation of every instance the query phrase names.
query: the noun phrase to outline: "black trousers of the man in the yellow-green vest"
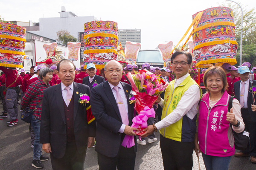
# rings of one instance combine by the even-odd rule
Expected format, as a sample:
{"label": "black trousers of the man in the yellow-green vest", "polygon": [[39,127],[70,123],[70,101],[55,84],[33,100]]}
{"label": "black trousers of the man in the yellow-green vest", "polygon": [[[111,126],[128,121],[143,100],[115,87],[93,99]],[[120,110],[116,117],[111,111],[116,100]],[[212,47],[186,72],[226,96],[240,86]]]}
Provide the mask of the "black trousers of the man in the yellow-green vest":
{"label": "black trousers of the man in the yellow-green vest", "polygon": [[192,170],[194,142],[178,142],[160,135],[165,170]]}

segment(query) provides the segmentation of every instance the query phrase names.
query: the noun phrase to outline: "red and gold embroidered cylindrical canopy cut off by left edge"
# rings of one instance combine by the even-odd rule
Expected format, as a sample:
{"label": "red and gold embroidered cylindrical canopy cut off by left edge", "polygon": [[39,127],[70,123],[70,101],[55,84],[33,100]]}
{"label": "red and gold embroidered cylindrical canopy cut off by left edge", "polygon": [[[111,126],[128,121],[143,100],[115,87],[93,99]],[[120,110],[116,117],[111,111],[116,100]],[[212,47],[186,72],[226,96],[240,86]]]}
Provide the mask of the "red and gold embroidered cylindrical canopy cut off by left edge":
{"label": "red and gold embroidered cylindrical canopy cut off by left edge", "polygon": [[0,66],[23,68],[26,28],[0,23]]}

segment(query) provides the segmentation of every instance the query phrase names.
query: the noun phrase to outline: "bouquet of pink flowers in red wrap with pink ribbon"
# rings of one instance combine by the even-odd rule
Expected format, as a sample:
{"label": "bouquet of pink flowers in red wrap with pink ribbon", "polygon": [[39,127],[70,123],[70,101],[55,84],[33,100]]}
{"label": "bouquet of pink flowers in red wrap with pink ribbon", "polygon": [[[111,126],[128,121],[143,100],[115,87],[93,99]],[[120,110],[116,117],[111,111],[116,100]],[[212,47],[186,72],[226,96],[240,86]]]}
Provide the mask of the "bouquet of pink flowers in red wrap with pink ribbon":
{"label": "bouquet of pink flowers in red wrap with pink ribbon", "polygon": [[[126,74],[126,77],[130,81],[133,90],[131,94],[133,94],[134,97],[131,97],[130,101],[135,99],[135,110],[139,114],[132,120],[133,124],[131,127],[139,129],[139,131],[136,131],[135,133],[140,139],[140,135],[145,133],[143,132],[143,129],[148,127],[148,118],[155,117],[155,111],[152,107],[157,100],[158,94],[161,94],[169,84],[146,69],[140,70],[135,74],[129,72]],[[133,139],[134,136],[126,135],[122,142],[122,146],[134,146]]]}

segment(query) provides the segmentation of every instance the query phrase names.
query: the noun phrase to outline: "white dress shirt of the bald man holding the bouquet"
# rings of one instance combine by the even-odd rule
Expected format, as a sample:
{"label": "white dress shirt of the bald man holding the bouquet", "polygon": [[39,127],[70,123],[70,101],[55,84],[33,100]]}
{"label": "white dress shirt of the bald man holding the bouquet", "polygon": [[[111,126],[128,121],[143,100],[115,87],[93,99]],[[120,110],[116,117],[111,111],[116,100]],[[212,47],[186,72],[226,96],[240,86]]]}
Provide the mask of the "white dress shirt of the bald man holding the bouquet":
{"label": "white dress shirt of the bald man holding the bouquet", "polygon": [[[111,90],[112,90],[112,93],[113,93],[113,95],[114,95],[114,97],[115,97],[115,99],[116,99],[116,91],[115,91],[115,89],[114,89],[115,86],[112,85],[110,82],[108,82],[108,84],[110,85],[110,88],[111,88]],[[126,110],[126,112],[127,112],[127,116],[129,117],[129,115],[128,115],[128,103],[127,103],[127,99],[126,99],[126,95],[125,95],[125,90],[123,89],[121,82],[119,82],[119,84],[117,85],[117,87],[119,87],[119,88],[118,88],[119,94],[120,94],[120,96],[122,97],[123,103],[124,103],[124,105],[125,105],[125,110]],[[116,102],[117,102],[117,101],[116,101]],[[120,127],[120,129],[119,129],[118,132],[124,133],[124,131],[125,131],[125,124],[122,124],[122,126]]]}

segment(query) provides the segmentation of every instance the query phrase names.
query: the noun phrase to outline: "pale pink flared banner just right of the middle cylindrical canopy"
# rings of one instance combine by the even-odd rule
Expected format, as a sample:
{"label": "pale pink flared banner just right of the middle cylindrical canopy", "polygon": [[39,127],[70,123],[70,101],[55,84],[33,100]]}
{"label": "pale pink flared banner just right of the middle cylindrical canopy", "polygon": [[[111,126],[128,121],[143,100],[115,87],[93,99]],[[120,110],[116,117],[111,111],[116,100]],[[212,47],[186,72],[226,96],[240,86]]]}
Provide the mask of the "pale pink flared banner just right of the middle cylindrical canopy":
{"label": "pale pink flared banner just right of the middle cylindrical canopy", "polygon": [[125,43],[125,59],[131,62],[136,61],[140,51],[140,43],[126,41]]}

